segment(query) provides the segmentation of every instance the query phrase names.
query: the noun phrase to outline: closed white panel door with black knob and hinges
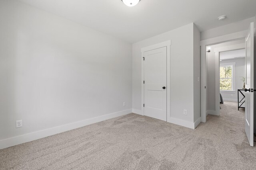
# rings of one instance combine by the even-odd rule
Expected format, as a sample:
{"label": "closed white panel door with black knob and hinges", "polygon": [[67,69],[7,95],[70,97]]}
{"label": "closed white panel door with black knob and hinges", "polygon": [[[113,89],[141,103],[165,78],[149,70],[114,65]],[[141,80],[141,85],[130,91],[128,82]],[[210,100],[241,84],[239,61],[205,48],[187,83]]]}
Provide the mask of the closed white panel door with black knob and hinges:
{"label": "closed white panel door with black knob and hinges", "polygon": [[144,56],[144,115],[166,121],[166,47]]}

